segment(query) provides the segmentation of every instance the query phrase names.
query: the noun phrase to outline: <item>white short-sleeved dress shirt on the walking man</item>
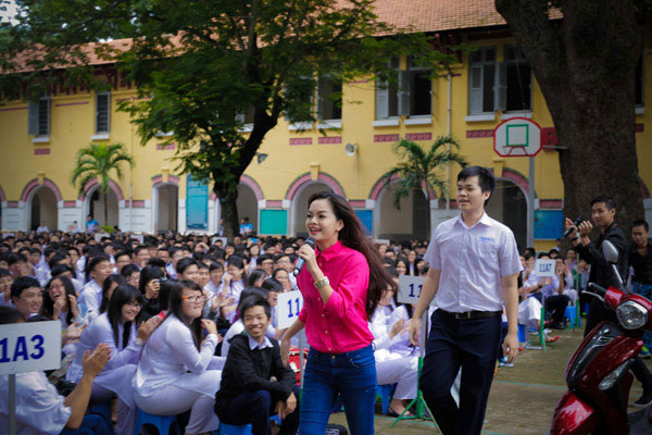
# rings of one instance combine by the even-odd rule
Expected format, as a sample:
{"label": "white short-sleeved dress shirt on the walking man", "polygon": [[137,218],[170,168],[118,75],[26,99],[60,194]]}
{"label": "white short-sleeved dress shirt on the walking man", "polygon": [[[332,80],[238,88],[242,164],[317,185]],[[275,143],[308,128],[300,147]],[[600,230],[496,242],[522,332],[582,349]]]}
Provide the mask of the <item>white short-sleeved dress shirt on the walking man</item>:
{"label": "white short-sleeved dress shirt on the walking man", "polygon": [[487,213],[466,226],[462,214],[435,229],[425,260],[441,271],[435,304],[450,312],[502,311],[502,276],[519,272],[514,233]]}

